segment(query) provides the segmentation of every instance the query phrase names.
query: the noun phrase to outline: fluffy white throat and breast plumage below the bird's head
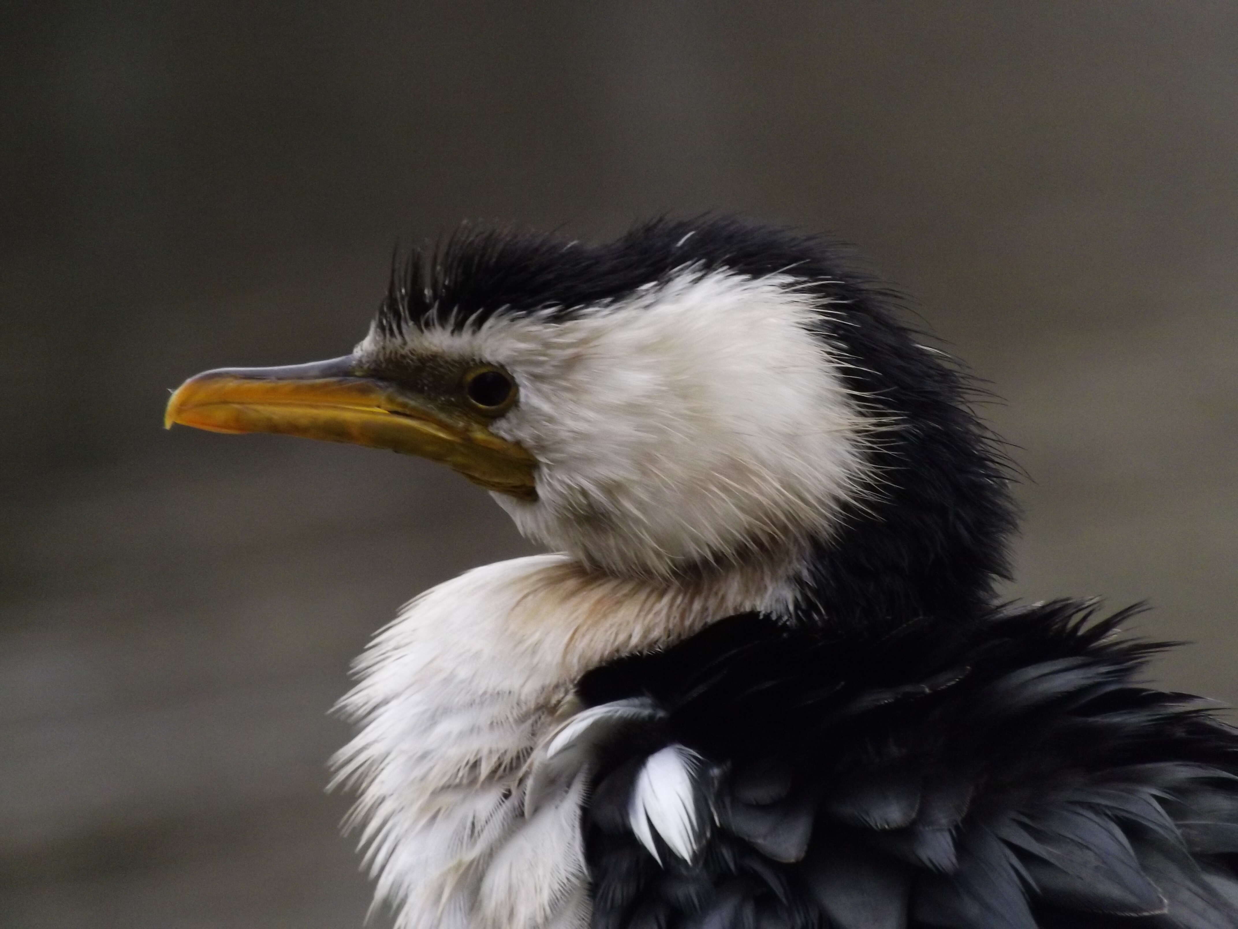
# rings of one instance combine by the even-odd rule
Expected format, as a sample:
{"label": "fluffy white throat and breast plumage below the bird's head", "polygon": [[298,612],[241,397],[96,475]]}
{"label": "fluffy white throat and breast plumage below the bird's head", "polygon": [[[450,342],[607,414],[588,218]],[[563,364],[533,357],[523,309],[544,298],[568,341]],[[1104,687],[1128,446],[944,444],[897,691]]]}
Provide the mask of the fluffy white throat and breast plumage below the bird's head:
{"label": "fluffy white throat and breast plumage below the bird's head", "polygon": [[[337,758],[337,780],[359,793],[378,899],[400,929],[584,927],[589,756],[571,749],[647,709],[582,715],[576,681],[722,617],[777,611],[785,585],[760,571],[652,583],[539,555],[409,603],[359,659],[340,709],[360,728]],[[639,813],[688,847],[686,813],[662,824],[652,800]]]}

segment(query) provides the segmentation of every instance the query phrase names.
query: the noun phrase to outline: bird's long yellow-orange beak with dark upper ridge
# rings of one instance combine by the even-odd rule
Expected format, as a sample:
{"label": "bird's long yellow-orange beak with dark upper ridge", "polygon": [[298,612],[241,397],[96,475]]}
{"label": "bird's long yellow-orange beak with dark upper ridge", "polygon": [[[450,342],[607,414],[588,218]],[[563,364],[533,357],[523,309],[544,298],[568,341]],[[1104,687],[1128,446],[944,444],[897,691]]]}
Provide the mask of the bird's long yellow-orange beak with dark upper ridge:
{"label": "bird's long yellow-orange beak with dark upper ridge", "polygon": [[536,499],[536,460],[479,416],[353,373],[352,358],[285,368],[219,368],[184,382],[163,425],[389,448],[441,461],[488,491]]}

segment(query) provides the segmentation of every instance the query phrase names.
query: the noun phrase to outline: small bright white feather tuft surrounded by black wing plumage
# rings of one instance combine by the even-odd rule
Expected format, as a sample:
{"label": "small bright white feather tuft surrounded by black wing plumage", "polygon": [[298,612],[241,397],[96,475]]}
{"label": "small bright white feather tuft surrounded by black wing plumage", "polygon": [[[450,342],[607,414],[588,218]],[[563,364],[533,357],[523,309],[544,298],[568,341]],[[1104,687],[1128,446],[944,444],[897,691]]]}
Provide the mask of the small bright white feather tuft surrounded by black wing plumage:
{"label": "small bright white feather tuft surrounded by black wing plumage", "polygon": [[652,855],[657,853],[654,832],[685,861],[697,852],[699,830],[696,804],[696,774],[701,758],[683,746],[667,746],[655,752],[636,775],[628,808],[631,829]]}

